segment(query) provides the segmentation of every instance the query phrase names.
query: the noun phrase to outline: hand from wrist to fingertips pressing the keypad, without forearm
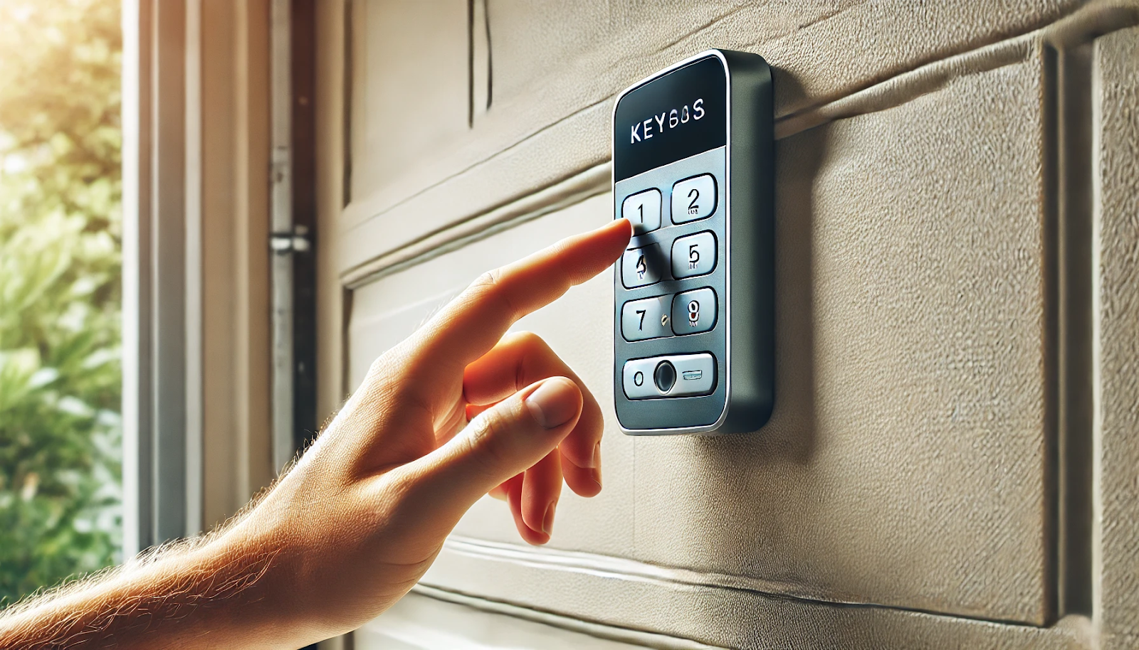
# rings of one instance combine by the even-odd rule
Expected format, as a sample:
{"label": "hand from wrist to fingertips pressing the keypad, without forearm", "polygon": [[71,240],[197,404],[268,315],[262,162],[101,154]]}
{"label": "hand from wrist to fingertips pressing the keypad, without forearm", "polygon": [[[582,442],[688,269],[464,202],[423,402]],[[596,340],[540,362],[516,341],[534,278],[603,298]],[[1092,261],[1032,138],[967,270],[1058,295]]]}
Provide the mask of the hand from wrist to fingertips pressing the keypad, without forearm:
{"label": "hand from wrist to fingertips pressing the keypad, without forearm", "polygon": [[399,600],[487,492],[542,544],[563,478],[583,496],[601,489],[597,401],[538,336],[503,334],[609,268],[629,237],[615,221],[476,280],[376,360],[296,466],[215,542],[273,553],[259,591],[305,640]]}

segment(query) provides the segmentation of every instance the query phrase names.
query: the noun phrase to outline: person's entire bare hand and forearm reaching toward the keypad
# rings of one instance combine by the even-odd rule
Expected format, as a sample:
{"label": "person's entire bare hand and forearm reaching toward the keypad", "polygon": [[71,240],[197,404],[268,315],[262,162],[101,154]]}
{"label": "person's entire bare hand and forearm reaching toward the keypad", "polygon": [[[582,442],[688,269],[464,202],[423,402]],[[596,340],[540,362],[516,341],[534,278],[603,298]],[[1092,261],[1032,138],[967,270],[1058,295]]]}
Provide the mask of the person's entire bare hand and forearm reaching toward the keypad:
{"label": "person's entire bare hand and forearm reaching toward the keypad", "polygon": [[523,315],[609,268],[628,221],[484,274],[363,384],[255,505],[0,615],[0,648],[297,648],[403,596],[484,494],[550,540],[562,483],[601,489],[601,410]]}

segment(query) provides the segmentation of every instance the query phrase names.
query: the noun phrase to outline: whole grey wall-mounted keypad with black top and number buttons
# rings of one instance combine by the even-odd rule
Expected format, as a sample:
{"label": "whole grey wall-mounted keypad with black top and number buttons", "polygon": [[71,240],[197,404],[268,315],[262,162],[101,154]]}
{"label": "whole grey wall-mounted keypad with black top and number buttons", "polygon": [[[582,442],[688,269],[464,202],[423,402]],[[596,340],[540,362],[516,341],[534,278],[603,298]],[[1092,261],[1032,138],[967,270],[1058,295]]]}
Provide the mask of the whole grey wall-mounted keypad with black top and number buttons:
{"label": "whole grey wall-mounted keypad with black top and number buttons", "polygon": [[639,222],[613,277],[613,403],[625,434],[747,433],[770,418],[773,196],[763,57],[707,50],[617,96],[614,216],[637,211]]}

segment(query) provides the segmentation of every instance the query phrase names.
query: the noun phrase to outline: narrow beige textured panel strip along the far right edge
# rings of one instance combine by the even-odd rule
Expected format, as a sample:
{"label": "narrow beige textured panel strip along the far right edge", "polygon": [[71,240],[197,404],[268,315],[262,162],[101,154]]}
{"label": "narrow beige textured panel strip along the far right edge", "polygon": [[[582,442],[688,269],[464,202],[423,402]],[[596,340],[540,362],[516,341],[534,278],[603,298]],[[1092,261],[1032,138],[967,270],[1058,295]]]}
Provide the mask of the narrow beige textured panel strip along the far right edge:
{"label": "narrow beige textured panel strip along the far right edge", "polygon": [[1096,42],[1096,322],[1108,648],[1139,648],[1139,30]]}

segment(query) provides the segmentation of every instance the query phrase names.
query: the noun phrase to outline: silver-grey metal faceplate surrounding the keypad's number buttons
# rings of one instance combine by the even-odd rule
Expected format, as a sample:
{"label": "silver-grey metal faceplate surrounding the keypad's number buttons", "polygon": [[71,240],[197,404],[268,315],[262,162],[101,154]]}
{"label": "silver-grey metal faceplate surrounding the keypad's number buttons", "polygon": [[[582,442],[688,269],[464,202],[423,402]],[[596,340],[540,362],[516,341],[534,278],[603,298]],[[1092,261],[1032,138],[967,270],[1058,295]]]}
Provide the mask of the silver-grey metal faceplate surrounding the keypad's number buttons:
{"label": "silver-grey metal faceplate surrounding the keypad's number buttons", "polygon": [[[716,205],[712,215],[705,219],[675,224],[672,221],[672,187],[675,182],[711,173],[715,178]],[[671,263],[663,264],[661,279],[644,287],[626,289],[621,279],[620,265],[614,274],[614,380],[622,385],[624,363],[632,359],[674,356],[706,352],[715,359],[715,382],[712,393],[702,396],[654,397],[629,400],[621,393],[616,409],[622,425],[628,429],[675,429],[679,427],[706,427],[721,417],[727,403],[727,323],[728,323],[728,250],[727,250],[727,147],[716,147],[681,161],[654,167],[636,176],[614,184],[614,214],[621,214],[621,204],[633,194],[656,188],[661,191],[661,228],[637,235],[628,248],[641,248],[659,244],[666,257],[671,256],[672,242],[677,238],[712,231],[716,240],[716,264],[711,273],[674,279]],[[671,260],[671,257],[670,257]],[[621,310],[629,301],[675,294],[710,287],[716,295],[716,322],[706,332],[669,336],[628,342],[621,331]],[[646,431],[652,433],[652,431]]]}

